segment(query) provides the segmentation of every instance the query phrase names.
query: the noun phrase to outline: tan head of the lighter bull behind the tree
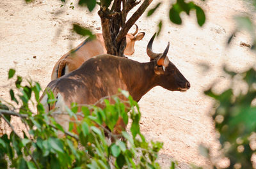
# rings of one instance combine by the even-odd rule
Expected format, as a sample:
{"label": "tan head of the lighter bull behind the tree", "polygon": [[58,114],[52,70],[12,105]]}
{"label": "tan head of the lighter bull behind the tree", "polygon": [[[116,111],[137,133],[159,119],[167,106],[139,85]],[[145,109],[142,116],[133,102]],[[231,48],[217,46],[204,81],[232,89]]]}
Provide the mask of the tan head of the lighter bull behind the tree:
{"label": "tan head of the lighter bull behind the tree", "polygon": [[138,33],[139,28],[136,24],[134,25],[136,26],[136,31],[134,33],[128,33],[126,35],[126,47],[124,50],[125,55],[132,55],[134,53],[135,41],[142,40],[145,36],[144,32]]}

